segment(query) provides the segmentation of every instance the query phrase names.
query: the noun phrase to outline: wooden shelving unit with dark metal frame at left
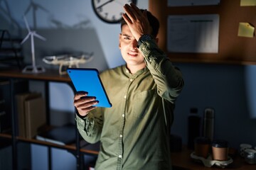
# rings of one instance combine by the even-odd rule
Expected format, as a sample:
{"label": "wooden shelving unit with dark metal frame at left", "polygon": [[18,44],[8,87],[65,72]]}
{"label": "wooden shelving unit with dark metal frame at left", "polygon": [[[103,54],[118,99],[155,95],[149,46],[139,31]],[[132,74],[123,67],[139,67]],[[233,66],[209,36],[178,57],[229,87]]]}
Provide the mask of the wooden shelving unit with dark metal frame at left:
{"label": "wooden shelving unit with dark metal frame at left", "polygon": [[[49,116],[49,101],[47,98],[49,98],[49,82],[55,81],[55,82],[63,82],[68,84],[72,89],[73,85],[71,84],[71,81],[68,77],[68,75],[60,75],[58,74],[58,70],[46,70],[46,72],[41,73],[41,74],[23,74],[21,70],[5,70],[5,71],[0,71],[0,79],[8,79],[10,82],[10,96],[11,96],[11,134],[7,133],[0,133],[0,137],[4,137],[6,139],[11,140],[11,145],[12,145],[12,158],[13,158],[13,169],[17,169],[17,142],[28,142],[31,144],[36,144],[36,145],[43,145],[48,147],[48,151],[50,152],[51,147],[59,148],[59,149],[65,149],[70,152],[72,152],[75,155],[75,158],[77,160],[77,169],[82,169],[82,164],[83,164],[83,154],[95,154],[97,155],[99,145],[85,145],[83,140],[80,140],[80,135],[75,128],[75,144],[73,145],[56,145],[51,142],[44,142],[41,140],[36,140],[36,139],[26,139],[23,137],[19,137],[17,130],[18,130],[18,123],[16,123],[16,111],[15,111],[15,106],[14,106],[14,81],[16,80],[33,80],[33,81],[43,81],[45,82],[45,93],[46,93],[46,123],[49,124],[50,116]],[[73,89],[74,90],[74,89]],[[75,115],[74,115],[75,116]],[[81,147],[81,146],[85,147]],[[51,169],[51,162],[50,162],[50,153],[48,152],[48,161],[49,161],[49,169]]]}

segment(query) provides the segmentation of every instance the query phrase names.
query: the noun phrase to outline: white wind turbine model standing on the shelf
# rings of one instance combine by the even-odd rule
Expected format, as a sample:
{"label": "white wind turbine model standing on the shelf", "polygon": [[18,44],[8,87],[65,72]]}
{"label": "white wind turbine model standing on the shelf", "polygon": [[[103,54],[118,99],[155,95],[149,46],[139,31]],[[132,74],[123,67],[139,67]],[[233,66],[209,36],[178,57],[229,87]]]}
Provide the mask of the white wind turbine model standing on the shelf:
{"label": "white wind turbine model standing on the shelf", "polygon": [[38,35],[35,30],[31,30],[28,26],[28,21],[26,21],[26,17],[24,16],[24,21],[26,23],[26,28],[28,29],[28,35],[26,35],[26,38],[24,38],[21,41],[21,45],[31,36],[31,53],[32,53],[32,65],[26,66],[22,72],[23,73],[41,73],[46,72],[46,70],[41,66],[36,66],[36,60],[35,60],[35,46],[34,46],[34,36],[36,38],[39,38],[41,40],[46,40],[46,38],[43,38],[41,35]]}

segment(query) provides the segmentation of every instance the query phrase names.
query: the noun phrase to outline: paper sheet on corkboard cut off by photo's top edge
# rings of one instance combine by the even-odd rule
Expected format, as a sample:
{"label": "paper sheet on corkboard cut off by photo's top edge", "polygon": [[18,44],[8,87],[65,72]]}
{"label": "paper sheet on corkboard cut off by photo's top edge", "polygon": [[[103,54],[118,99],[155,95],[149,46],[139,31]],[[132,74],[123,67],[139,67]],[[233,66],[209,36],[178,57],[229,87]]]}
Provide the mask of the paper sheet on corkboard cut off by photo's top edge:
{"label": "paper sheet on corkboard cut off by photo's top edge", "polygon": [[220,4],[220,0],[168,0],[168,6],[207,6],[218,4]]}

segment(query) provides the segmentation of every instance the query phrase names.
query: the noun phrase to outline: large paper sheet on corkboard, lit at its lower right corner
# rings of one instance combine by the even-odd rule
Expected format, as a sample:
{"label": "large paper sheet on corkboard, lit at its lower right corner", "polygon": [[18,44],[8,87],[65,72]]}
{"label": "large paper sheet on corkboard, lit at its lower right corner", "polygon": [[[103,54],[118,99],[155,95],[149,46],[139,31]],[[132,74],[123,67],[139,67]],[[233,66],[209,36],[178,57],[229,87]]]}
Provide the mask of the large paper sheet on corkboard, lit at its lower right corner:
{"label": "large paper sheet on corkboard, lit at its lower right corner", "polygon": [[219,15],[180,15],[168,17],[169,52],[218,53]]}

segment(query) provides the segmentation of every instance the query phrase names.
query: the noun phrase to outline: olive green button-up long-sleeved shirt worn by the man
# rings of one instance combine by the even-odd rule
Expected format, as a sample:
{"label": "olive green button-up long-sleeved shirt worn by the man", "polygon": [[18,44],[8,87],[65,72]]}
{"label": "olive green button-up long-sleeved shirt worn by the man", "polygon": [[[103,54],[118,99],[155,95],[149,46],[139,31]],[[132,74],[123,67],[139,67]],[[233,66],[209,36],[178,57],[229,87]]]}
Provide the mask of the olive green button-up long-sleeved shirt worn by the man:
{"label": "olive green button-up long-sleeved shirt worn by the man", "polygon": [[183,79],[154,40],[139,49],[146,68],[130,74],[123,65],[100,74],[112,108],[77,115],[82,137],[100,141],[97,170],[171,169],[169,135]]}

